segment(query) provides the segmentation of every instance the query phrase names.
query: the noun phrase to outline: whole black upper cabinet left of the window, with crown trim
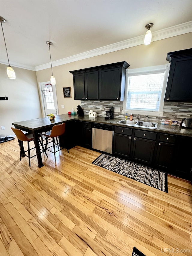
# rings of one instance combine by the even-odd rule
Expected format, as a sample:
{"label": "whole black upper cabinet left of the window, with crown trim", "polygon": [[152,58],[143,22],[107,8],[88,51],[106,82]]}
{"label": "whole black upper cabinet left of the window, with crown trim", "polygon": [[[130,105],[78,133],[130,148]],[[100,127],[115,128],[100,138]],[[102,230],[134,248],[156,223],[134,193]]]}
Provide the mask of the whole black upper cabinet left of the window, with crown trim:
{"label": "whole black upper cabinet left of the window, with crown trim", "polygon": [[123,101],[127,62],[70,71],[75,100]]}

